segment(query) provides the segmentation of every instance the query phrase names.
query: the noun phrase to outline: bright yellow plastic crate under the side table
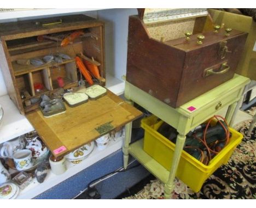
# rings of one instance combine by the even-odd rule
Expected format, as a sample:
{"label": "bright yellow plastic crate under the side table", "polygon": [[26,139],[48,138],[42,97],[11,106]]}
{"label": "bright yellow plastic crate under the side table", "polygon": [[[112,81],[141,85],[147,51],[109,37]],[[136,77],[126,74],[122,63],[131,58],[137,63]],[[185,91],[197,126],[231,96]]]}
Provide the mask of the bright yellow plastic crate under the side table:
{"label": "bright yellow plastic crate under the side table", "polygon": [[[145,130],[143,149],[167,170],[171,169],[175,144],[157,132],[163,121],[154,115],[144,118],[141,126]],[[219,152],[206,166],[184,150],[179,161],[176,176],[194,192],[199,192],[205,180],[222,164],[228,162],[232,152],[241,142],[243,135],[229,127],[232,137],[228,145]]]}

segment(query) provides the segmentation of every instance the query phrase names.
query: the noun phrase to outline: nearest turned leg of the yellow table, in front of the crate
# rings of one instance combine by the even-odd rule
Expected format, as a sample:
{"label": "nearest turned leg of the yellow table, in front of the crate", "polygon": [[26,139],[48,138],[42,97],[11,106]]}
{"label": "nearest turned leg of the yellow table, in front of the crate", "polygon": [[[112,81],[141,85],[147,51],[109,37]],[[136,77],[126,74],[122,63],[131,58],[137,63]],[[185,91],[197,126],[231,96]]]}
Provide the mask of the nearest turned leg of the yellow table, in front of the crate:
{"label": "nearest turned leg of the yellow table, in front of the crate", "polygon": [[165,199],[170,199],[171,198],[171,192],[174,189],[174,178],[175,174],[178,168],[179,164],[179,159],[181,158],[181,153],[183,150],[183,146],[185,143],[186,137],[182,134],[178,134],[177,136],[177,142],[176,142],[176,147],[174,150],[174,155],[172,159],[172,167],[170,170],[170,175],[168,178],[168,182],[165,184],[164,192],[165,192]]}

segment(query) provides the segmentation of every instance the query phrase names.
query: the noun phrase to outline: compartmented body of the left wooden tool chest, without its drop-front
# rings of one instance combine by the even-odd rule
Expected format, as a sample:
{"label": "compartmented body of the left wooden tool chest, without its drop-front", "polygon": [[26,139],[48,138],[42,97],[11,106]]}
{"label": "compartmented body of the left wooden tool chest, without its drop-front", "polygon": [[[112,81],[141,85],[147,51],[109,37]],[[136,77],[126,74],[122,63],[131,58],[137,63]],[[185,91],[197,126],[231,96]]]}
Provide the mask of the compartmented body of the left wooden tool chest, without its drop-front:
{"label": "compartmented body of the left wooden tool chest, without its drop-front", "polygon": [[[61,46],[63,39],[78,31],[83,34],[71,40],[68,45]],[[82,75],[77,69],[75,57],[81,52],[100,63],[100,76],[106,77],[104,22],[89,16],[71,15],[2,23],[0,37],[0,68],[10,98],[22,114],[36,109],[25,105],[25,91],[26,95],[30,94],[30,99],[43,94],[50,95],[60,87],[58,78],[65,89],[78,85],[78,79]],[[59,54],[66,54],[69,58],[60,59]],[[43,58],[48,55],[54,56],[54,60],[46,62]],[[43,63],[35,65],[33,59],[40,59]],[[106,84],[96,78],[93,80],[94,84]],[[35,89],[35,84],[43,85],[43,89]],[[86,80],[85,84],[89,86]]]}

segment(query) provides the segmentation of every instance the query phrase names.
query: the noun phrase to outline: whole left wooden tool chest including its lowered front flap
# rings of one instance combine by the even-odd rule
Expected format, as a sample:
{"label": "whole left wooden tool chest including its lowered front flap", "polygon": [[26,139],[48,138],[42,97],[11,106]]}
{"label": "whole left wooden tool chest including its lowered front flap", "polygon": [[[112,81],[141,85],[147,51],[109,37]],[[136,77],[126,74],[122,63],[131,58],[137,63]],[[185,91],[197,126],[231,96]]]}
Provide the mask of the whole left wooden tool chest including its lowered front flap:
{"label": "whole left wooden tool chest including its lowered front flap", "polygon": [[[74,34],[76,37],[68,39],[68,44],[62,47],[63,40]],[[64,156],[120,129],[142,115],[132,105],[101,87],[106,84],[103,21],[85,15],[70,15],[2,23],[0,38],[0,68],[10,99],[20,113],[25,114],[55,157]],[[47,63],[45,60],[49,55],[53,55],[54,60]],[[62,57],[62,60],[55,59],[55,56]],[[97,64],[100,78],[93,79],[94,83],[82,80],[77,57]],[[37,64],[38,59],[44,63],[33,64]],[[79,82],[85,84],[86,90],[90,85],[101,85],[98,87],[105,93],[80,105],[63,102],[65,111],[50,118],[41,111],[42,102],[26,105],[27,100],[42,95],[50,97],[60,88],[77,87]],[[65,99],[65,95],[63,97]]]}

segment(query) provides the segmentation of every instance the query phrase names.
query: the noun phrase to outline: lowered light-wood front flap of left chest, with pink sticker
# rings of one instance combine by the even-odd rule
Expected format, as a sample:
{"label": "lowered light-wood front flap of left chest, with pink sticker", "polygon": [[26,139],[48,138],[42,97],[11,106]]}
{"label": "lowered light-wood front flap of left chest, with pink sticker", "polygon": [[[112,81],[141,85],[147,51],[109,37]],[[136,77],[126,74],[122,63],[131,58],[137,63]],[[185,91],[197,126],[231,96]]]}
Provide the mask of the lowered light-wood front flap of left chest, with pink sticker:
{"label": "lowered light-wood front flap of left chest, with pink sticker", "polygon": [[110,123],[115,129],[142,115],[135,107],[109,90],[100,99],[89,100],[73,108],[66,105],[66,108],[65,113],[50,118],[45,118],[40,109],[26,114],[53,154],[54,150],[65,146],[65,151],[54,154],[58,157],[100,137],[97,127]]}

